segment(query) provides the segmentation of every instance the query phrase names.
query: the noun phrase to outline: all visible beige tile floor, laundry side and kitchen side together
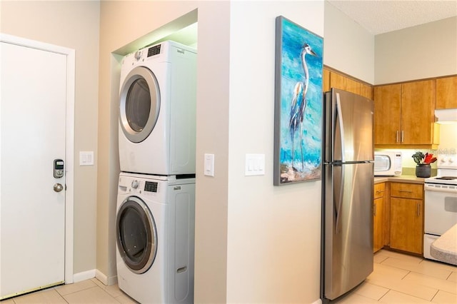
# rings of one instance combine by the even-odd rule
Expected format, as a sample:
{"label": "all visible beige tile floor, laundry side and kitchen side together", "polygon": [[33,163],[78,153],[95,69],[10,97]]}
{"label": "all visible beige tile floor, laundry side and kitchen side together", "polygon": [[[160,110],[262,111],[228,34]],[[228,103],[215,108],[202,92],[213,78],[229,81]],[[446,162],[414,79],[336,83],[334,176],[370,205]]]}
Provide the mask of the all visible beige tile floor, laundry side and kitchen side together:
{"label": "all visible beige tile floor, laundry side and kitchen side together", "polygon": [[[457,303],[457,267],[388,250],[374,256],[374,270],[338,304]],[[96,278],[1,301],[14,303],[136,303],[117,285]]]}

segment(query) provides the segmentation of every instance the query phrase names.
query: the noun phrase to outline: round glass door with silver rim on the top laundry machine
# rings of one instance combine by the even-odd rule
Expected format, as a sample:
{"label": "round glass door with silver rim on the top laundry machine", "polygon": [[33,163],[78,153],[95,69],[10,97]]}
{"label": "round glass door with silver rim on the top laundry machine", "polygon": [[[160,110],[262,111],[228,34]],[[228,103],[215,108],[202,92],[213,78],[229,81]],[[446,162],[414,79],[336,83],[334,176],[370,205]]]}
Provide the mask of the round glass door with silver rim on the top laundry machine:
{"label": "round glass door with silver rim on the top laundry machine", "polygon": [[144,66],[137,66],[122,84],[119,123],[126,138],[144,141],[159,117],[160,91],[156,76]]}

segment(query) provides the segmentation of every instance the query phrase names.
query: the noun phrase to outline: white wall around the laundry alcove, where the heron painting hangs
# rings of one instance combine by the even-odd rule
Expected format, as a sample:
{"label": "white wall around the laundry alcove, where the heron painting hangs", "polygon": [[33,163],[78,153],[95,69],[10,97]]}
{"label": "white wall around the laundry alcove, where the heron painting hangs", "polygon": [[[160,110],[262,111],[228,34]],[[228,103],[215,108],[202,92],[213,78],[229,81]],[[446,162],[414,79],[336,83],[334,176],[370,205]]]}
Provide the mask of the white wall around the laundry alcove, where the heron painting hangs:
{"label": "white wall around the laundry alcove, where the heron painting hangs", "polygon": [[[195,8],[199,21],[195,301],[316,301],[321,183],[273,186],[273,86],[276,16],[283,14],[322,35],[321,1],[101,2],[99,107],[104,112],[99,116],[99,158],[104,162],[99,170],[98,235],[106,244],[99,248],[97,268],[114,274],[114,244],[105,240],[111,237],[113,176],[119,172],[114,151],[119,84],[113,76],[119,73],[119,61],[111,53]],[[256,115],[242,109],[256,109]],[[244,154],[254,150],[266,153],[267,174],[246,178]],[[216,156],[214,177],[203,176],[204,153]]]}

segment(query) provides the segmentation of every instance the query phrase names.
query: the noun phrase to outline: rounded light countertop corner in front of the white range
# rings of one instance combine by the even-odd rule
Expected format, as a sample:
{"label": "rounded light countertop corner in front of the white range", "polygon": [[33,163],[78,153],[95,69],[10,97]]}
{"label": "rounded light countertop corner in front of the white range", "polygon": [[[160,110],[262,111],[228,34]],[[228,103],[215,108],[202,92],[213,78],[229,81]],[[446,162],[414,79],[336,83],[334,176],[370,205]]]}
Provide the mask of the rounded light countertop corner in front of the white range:
{"label": "rounded light countertop corner in front of the white range", "polygon": [[457,224],[431,243],[430,254],[437,260],[457,265]]}

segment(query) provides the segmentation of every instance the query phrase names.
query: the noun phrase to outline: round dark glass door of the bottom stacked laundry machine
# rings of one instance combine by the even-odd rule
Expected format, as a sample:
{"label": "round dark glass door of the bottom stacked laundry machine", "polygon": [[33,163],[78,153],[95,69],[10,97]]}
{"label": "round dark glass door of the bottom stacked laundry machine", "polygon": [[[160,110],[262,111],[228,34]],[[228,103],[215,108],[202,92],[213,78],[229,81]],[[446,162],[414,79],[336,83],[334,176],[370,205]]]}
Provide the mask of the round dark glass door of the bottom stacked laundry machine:
{"label": "round dark glass door of the bottom stacked laundry machine", "polygon": [[134,273],[145,273],[157,253],[157,230],[148,206],[136,196],[126,198],[116,218],[116,241],[124,263]]}

